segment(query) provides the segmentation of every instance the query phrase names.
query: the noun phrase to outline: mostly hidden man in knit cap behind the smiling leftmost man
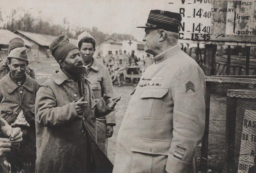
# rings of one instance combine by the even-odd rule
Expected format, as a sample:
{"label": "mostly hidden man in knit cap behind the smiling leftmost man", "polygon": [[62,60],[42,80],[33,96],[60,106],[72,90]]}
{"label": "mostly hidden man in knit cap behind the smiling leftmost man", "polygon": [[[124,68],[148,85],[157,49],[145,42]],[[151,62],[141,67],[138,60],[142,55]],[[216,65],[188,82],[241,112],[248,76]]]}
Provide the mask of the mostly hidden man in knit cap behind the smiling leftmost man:
{"label": "mostly hidden man in knit cap behind the smiling leftmost man", "polygon": [[[8,54],[10,51],[12,51],[14,48],[21,48],[25,47],[25,43],[21,38],[15,37],[12,40],[9,41],[9,48],[8,48]],[[7,58],[0,62],[0,79],[2,79],[6,74],[8,74],[10,71],[8,67],[8,60]],[[32,77],[36,80],[36,74],[35,69],[32,68],[30,64],[27,65],[26,68],[26,75],[29,77]]]}

